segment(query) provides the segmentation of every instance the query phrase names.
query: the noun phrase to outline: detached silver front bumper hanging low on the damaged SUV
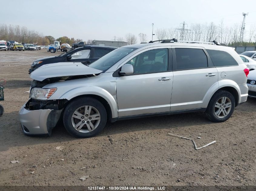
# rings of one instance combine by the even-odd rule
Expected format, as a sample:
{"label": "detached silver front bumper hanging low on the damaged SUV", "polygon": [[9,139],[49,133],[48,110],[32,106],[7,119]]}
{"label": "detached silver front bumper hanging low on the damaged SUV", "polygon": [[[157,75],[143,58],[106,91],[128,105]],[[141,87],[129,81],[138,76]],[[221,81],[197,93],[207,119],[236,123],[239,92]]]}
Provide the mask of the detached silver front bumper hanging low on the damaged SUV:
{"label": "detached silver front bumper hanging low on the damaged SUV", "polygon": [[[19,119],[21,122],[22,130],[27,135],[51,135],[52,129],[58,123],[62,114],[61,109],[39,109],[31,107],[32,99],[20,109]],[[35,106],[35,105],[34,105]]]}

